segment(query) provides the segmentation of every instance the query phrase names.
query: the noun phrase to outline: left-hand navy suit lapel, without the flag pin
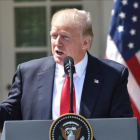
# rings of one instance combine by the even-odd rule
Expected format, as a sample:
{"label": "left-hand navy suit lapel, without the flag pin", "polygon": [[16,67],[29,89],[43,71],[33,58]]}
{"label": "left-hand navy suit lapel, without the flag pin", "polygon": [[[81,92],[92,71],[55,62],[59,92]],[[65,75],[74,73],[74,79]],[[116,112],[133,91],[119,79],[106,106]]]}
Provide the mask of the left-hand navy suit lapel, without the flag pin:
{"label": "left-hand navy suit lapel, without the flag pin", "polygon": [[55,74],[53,57],[46,59],[42,72],[38,73],[38,96],[40,119],[52,119],[52,93]]}

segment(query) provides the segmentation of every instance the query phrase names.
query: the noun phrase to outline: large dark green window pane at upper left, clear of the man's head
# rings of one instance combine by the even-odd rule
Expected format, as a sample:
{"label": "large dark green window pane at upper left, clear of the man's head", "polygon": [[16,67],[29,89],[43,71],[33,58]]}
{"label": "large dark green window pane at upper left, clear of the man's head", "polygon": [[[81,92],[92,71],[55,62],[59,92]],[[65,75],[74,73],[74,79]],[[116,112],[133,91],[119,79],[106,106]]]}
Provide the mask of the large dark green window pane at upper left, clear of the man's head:
{"label": "large dark green window pane at upper left, clear of the man's head", "polygon": [[16,47],[45,47],[45,7],[15,8],[15,32]]}

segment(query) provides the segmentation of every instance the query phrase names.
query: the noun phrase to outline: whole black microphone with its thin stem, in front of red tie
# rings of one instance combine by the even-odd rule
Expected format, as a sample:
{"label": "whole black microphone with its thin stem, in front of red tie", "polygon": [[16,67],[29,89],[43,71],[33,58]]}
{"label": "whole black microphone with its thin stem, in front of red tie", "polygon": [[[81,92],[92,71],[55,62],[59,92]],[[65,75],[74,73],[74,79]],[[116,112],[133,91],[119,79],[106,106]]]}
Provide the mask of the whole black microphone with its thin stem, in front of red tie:
{"label": "whole black microphone with its thin stem, in front of red tie", "polygon": [[74,113],[73,111],[73,74],[75,73],[74,60],[72,57],[67,56],[64,59],[64,71],[66,75],[70,78],[70,111],[69,113]]}

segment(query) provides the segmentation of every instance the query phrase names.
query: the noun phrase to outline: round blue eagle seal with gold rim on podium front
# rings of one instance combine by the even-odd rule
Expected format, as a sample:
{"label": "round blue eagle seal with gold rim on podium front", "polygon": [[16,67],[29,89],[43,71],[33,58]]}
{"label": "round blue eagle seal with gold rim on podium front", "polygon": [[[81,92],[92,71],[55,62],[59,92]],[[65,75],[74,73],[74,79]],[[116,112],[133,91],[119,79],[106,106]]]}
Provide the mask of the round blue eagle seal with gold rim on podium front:
{"label": "round blue eagle seal with gold rim on podium front", "polygon": [[49,140],[93,140],[92,127],[81,115],[64,114],[52,123]]}

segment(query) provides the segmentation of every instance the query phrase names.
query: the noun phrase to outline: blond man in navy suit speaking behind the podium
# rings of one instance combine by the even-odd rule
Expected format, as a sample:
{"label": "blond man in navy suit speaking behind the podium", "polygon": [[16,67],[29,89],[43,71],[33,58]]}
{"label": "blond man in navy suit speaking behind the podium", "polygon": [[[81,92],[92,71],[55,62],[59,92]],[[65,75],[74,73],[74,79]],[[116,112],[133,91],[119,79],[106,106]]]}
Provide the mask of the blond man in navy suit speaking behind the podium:
{"label": "blond man in navy suit speaking behind the podium", "polygon": [[87,51],[93,38],[90,14],[77,9],[58,11],[50,35],[53,56],[18,66],[9,97],[0,105],[0,128],[5,120],[59,117],[66,56],[74,59],[76,69],[77,114],[85,118],[132,117],[127,68]]}

